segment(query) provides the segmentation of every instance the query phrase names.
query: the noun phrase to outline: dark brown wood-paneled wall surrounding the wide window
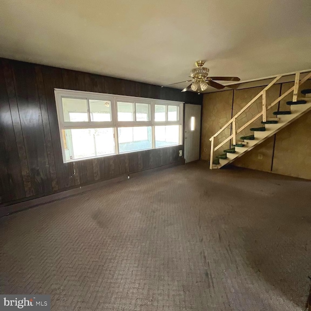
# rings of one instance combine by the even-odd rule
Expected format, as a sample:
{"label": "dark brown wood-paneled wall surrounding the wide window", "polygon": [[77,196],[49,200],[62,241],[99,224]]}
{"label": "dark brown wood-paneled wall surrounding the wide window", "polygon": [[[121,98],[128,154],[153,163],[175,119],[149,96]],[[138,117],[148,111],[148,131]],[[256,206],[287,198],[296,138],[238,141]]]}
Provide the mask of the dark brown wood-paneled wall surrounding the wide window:
{"label": "dark brown wood-paneled wall surrounding the wide window", "polygon": [[0,58],[0,207],[180,161],[183,146],[63,163],[54,88],[202,104],[202,95]]}

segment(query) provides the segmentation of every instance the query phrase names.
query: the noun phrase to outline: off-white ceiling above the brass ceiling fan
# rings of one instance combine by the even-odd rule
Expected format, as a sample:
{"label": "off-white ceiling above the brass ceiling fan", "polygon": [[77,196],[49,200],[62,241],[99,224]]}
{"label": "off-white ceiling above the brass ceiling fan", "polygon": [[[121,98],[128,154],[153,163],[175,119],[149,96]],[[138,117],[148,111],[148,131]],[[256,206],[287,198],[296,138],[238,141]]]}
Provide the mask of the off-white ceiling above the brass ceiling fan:
{"label": "off-white ceiling above the brass ceiling fan", "polygon": [[204,59],[258,79],[311,69],[311,1],[1,0],[0,56],[156,85]]}

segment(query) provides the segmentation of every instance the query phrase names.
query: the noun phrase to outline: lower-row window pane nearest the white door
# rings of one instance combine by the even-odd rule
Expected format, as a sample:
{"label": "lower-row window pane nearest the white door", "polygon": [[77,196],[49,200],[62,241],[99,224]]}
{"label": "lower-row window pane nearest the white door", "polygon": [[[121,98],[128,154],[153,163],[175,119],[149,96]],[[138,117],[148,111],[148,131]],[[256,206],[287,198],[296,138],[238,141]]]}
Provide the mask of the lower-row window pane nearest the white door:
{"label": "lower-row window pane nearest the white door", "polygon": [[179,144],[179,125],[155,126],[155,147]]}

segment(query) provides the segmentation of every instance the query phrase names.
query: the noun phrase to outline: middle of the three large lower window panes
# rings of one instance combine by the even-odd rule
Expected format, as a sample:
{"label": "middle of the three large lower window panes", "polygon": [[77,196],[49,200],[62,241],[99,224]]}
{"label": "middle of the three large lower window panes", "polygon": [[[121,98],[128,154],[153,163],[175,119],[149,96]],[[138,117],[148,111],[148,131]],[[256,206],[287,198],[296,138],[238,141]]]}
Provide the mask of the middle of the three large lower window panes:
{"label": "middle of the three large lower window panes", "polygon": [[119,127],[119,152],[152,148],[151,126]]}

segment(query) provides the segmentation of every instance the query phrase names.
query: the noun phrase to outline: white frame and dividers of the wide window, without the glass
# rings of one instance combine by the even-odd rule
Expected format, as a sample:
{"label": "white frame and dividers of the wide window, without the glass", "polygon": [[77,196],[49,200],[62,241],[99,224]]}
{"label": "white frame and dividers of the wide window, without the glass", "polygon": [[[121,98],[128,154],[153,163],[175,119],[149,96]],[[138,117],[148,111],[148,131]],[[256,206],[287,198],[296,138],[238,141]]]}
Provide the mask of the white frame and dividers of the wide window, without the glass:
{"label": "white frame and dividers of the wide window, without the glass", "polygon": [[[57,119],[58,119],[58,127],[60,133],[60,140],[62,146],[62,154],[63,154],[63,162],[75,162],[75,161],[82,161],[91,158],[103,157],[103,156],[111,156],[110,155],[100,155],[100,156],[90,156],[81,159],[66,159],[65,153],[65,146],[63,140],[63,130],[68,129],[88,129],[88,128],[113,128],[114,129],[114,140],[115,140],[115,154],[119,154],[119,141],[118,141],[118,128],[119,127],[139,127],[139,126],[151,126],[152,129],[152,148],[142,149],[142,150],[149,150],[155,149],[155,126],[158,125],[179,125],[179,144],[182,145],[183,143],[183,108],[184,102],[175,102],[175,101],[167,101],[167,100],[157,100],[157,99],[150,99],[144,97],[134,97],[134,96],[122,96],[122,95],[114,95],[114,94],[105,94],[105,93],[95,93],[95,92],[85,92],[85,91],[75,91],[69,89],[61,89],[61,88],[54,88],[55,94],[55,101],[56,101],[56,110],[57,110]],[[85,122],[66,122],[64,121],[64,114],[63,114],[63,105],[62,105],[62,98],[74,98],[74,99],[86,99],[87,102],[87,118],[88,121]],[[111,121],[90,121],[90,106],[89,100],[102,100],[102,101],[109,101],[111,103],[110,112],[111,112]],[[133,103],[133,113],[134,113],[134,121],[118,121],[118,105],[117,102],[127,102]],[[150,121],[136,121],[136,104],[150,104]],[[165,119],[166,121],[155,121],[155,104],[165,105]],[[168,106],[178,106],[179,107],[179,115],[178,121],[167,121],[168,120]],[[176,145],[170,146],[163,146],[163,147],[156,147],[158,148],[167,148]],[[129,151],[131,152],[138,152],[141,150],[136,151]],[[124,153],[121,153],[124,154]]]}

